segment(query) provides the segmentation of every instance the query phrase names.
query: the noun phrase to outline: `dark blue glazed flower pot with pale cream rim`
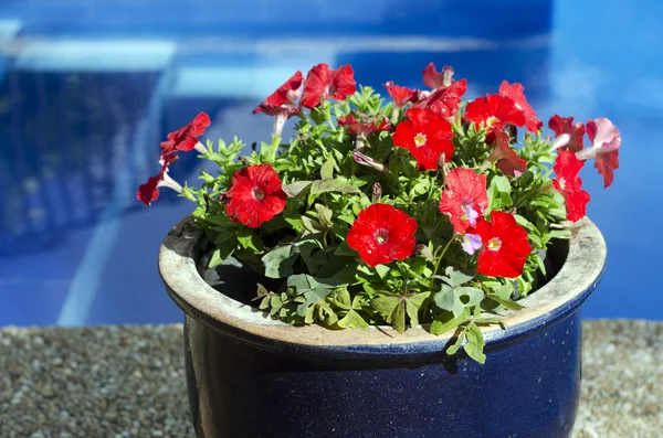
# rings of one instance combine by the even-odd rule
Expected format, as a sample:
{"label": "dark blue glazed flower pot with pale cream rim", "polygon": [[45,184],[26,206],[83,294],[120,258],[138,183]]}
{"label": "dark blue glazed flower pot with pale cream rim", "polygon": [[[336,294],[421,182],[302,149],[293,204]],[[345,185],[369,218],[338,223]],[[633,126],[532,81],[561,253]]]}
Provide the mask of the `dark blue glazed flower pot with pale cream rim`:
{"label": "dark blue glazed flower pot with pale cream rim", "polygon": [[[159,269],[186,312],[191,415],[202,438],[568,437],[580,395],[578,310],[596,288],[606,244],[587,218],[550,252],[559,271],[484,327],[484,365],[443,351],[453,333],[422,328],[334,331],[265,318],[229,295],[259,276],[228,265],[220,293],[197,270],[199,233],[182,221]],[[224,268],[224,269],[225,269]]]}

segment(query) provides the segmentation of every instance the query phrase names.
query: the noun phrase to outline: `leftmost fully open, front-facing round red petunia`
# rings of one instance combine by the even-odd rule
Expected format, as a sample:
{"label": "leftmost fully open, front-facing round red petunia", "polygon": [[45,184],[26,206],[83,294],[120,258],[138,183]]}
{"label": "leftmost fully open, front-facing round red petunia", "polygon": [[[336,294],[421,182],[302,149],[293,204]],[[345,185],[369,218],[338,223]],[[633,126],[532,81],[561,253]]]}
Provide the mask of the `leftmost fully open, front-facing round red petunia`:
{"label": "leftmost fully open, front-facing round red petunia", "polygon": [[287,195],[271,164],[249,165],[232,177],[225,212],[233,222],[257,228],[285,209]]}

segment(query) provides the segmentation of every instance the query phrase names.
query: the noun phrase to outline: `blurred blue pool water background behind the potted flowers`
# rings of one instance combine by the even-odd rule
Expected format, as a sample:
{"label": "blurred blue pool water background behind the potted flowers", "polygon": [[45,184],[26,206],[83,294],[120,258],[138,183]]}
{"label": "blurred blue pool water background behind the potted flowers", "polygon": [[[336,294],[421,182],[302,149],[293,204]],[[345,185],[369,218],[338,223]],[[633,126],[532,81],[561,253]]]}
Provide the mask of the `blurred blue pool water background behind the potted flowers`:
{"label": "blurred blue pool water background behind the potted flowers", "polygon": [[[603,190],[609,246],[587,318],[662,319],[663,31],[657,1],[0,1],[0,325],[175,322],[158,246],[192,205],[136,188],[200,110],[206,138],[269,138],[251,110],[295,70],[351,63],[359,83],[421,87],[431,61],[469,96],[522,82],[543,120],[610,118],[623,148]],[[172,167],[194,182],[193,154]]]}

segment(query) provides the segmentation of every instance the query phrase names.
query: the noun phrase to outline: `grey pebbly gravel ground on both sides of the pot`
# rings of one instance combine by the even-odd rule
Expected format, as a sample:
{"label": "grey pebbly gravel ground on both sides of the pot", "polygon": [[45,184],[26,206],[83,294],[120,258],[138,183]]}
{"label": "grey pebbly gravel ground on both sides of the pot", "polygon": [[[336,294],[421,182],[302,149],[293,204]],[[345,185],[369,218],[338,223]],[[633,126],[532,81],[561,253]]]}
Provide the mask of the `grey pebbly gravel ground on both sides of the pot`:
{"label": "grey pebbly gravel ground on both sides of the pot", "polygon": [[[663,436],[663,323],[585,322],[573,438]],[[0,437],[193,437],[181,325],[0,329]]]}

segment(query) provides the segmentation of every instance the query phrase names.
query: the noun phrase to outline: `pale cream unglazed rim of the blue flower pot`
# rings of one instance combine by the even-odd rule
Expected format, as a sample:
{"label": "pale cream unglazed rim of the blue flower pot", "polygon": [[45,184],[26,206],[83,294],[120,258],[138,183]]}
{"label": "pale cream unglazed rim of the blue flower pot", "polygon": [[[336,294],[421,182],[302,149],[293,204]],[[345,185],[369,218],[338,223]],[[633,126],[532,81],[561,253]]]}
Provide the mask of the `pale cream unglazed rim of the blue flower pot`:
{"label": "pale cream unglazed rim of the blue flower pot", "polygon": [[[575,313],[596,289],[606,266],[607,246],[599,228],[587,217],[568,223],[571,231],[566,261],[550,281],[518,300],[525,307],[506,310],[496,324],[482,327],[486,351],[544,330]],[[318,324],[293,327],[265,318],[209,286],[198,273],[200,229],[190,217],[176,225],[159,250],[159,274],[168,295],[190,317],[256,346],[322,357],[413,359],[439,355],[453,339],[453,331],[434,335],[421,325],[399,334],[391,327],[366,330],[329,330]]]}

